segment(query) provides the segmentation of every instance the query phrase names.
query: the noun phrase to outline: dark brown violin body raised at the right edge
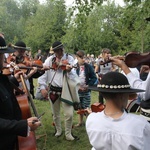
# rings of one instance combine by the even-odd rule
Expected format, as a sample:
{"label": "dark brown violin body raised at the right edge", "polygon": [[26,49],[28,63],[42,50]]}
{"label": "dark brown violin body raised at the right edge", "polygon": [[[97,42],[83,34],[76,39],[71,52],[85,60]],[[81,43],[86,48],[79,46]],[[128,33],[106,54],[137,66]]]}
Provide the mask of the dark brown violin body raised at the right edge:
{"label": "dark brown violin body raised at the right edge", "polygon": [[140,65],[150,66],[150,53],[129,52],[125,56],[125,63],[128,67],[134,68]]}

